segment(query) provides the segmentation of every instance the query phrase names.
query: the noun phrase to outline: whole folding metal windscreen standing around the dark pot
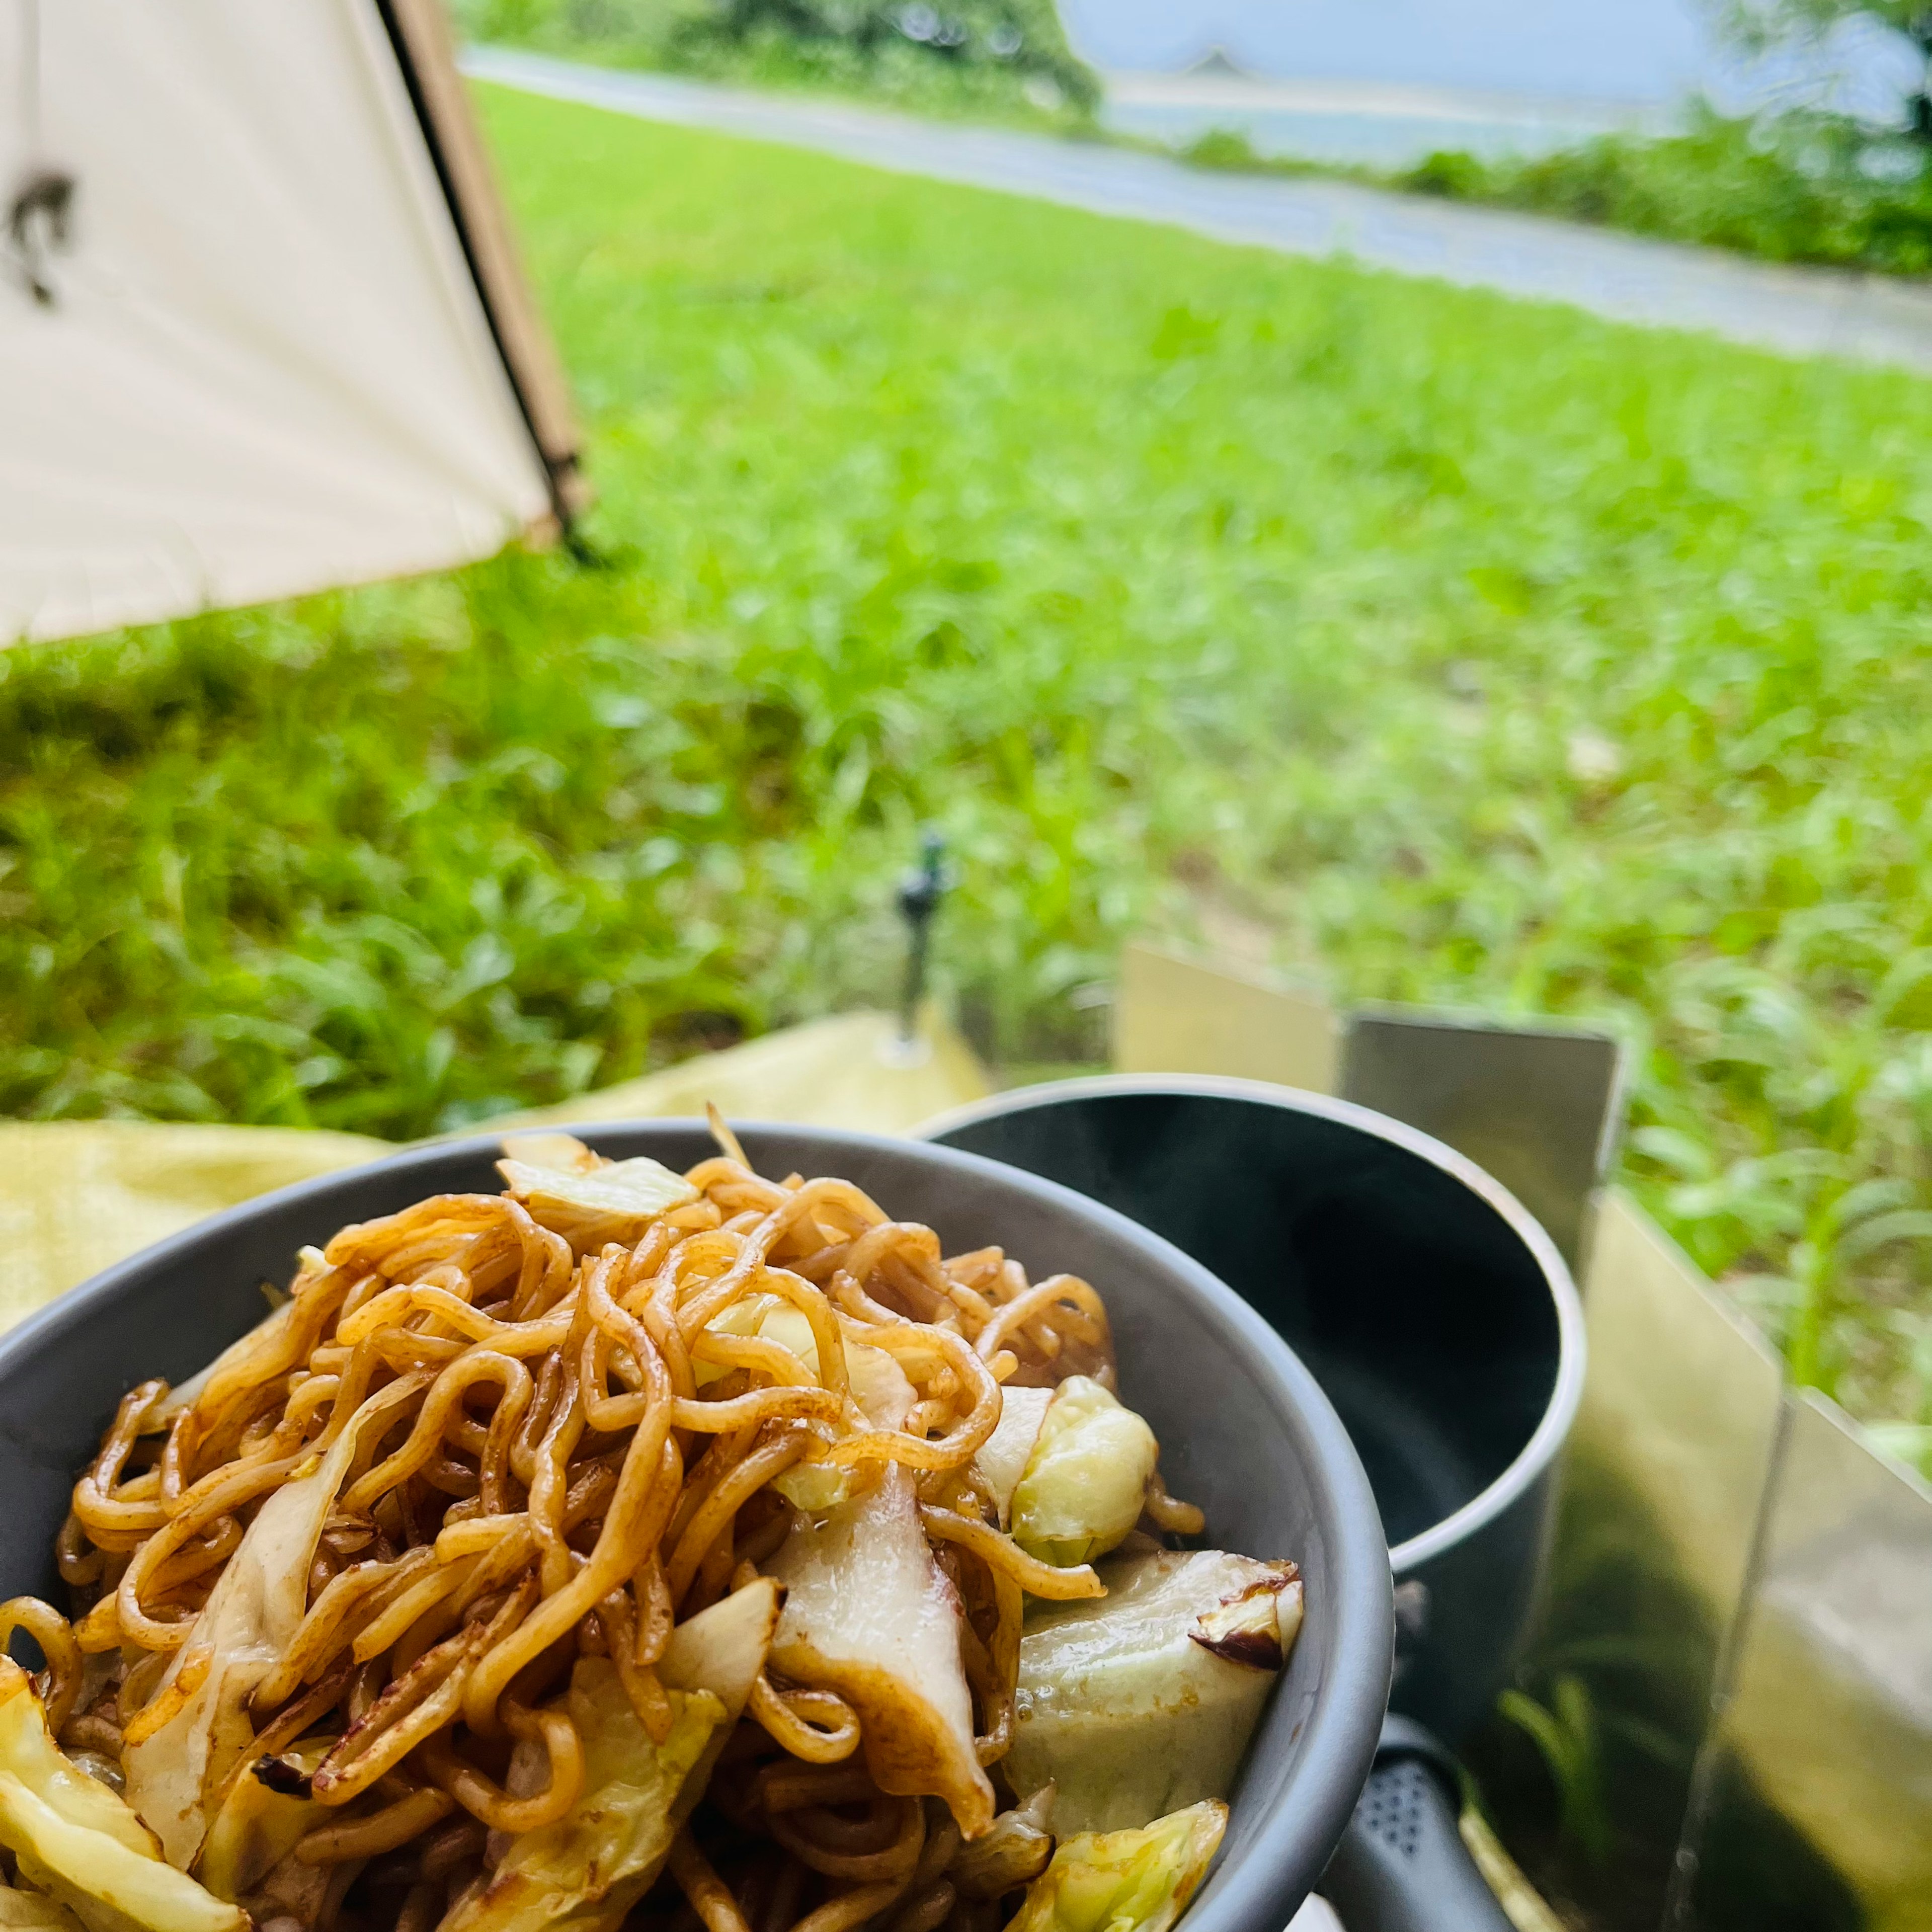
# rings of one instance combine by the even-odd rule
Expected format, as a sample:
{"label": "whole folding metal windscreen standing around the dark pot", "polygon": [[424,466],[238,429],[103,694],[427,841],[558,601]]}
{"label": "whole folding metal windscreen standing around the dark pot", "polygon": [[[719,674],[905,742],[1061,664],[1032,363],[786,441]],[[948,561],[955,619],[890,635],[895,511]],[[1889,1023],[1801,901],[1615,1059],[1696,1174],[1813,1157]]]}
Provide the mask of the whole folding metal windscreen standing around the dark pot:
{"label": "whole folding metal windscreen standing around the dark pot", "polygon": [[[1231,981],[1142,949],[1122,1065],[1252,1074]],[[1511,1849],[1619,1932],[1932,1932],[1932,1490],[1785,1389],[1627,1196],[1590,1215],[1613,1041],[1378,1009],[1341,1063],[1345,1097],[1488,1167],[1565,1252],[1588,1244],[1592,1370],[1519,1673],[1569,1754],[1546,1764],[1507,1725],[1470,1752]]]}

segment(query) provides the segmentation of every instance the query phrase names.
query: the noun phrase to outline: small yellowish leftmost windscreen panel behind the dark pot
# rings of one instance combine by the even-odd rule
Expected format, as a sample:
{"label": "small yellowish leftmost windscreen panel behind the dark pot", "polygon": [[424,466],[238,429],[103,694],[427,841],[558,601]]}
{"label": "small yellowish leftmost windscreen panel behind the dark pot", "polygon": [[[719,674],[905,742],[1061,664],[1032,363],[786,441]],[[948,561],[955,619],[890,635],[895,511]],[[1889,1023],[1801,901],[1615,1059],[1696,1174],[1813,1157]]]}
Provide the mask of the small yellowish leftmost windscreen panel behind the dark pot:
{"label": "small yellowish leftmost windscreen panel behind the dark pot", "polygon": [[1121,954],[1113,1065],[1124,1074],[1235,1074],[1333,1094],[1341,1022],[1320,995],[1163,947]]}

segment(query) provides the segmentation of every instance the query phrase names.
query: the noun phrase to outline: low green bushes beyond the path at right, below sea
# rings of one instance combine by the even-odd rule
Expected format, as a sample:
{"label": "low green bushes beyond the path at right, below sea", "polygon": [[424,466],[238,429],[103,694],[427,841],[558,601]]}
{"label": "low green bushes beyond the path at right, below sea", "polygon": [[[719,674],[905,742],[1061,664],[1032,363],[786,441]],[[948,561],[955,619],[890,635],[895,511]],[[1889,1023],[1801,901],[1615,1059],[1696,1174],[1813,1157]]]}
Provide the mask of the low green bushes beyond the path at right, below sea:
{"label": "low green bushes beyond the path at right, below sea", "polygon": [[1534,160],[1439,153],[1383,180],[1768,261],[1932,269],[1932,147],[1833,114],[1706,108],[1662,139],[1604,135]]}

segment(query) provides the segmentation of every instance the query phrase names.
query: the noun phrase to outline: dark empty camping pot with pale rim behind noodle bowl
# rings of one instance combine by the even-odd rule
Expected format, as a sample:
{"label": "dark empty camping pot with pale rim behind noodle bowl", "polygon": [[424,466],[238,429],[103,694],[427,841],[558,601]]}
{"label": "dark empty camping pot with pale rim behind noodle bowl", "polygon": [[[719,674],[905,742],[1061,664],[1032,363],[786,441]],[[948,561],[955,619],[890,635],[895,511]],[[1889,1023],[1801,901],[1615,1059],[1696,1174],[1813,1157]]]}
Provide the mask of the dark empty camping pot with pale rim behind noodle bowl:
{"label": "dark empty camping pot with pale rim behind noodle bowl", "polygon": [[[958,1109],[927,1136],[1165,1235],[1314,1372],[1381,1509],[1391,1710],[1406,1719],[1391,1721],[1323,1889],[1350,1932],[1507,1924],[1470,1888],[1435,1739],[1453,1747],[1490,1710],[1536,1596],[1551,1464],[1584,1370],[1582,1308],[1555,1244],[1428,1134],[1252,1080],[1053,1082]],[[1430,1791],[1435,1816],[1418,1824]],[[1441,1853],[1428,1872],[1401,1855],[1418,1832]]]}

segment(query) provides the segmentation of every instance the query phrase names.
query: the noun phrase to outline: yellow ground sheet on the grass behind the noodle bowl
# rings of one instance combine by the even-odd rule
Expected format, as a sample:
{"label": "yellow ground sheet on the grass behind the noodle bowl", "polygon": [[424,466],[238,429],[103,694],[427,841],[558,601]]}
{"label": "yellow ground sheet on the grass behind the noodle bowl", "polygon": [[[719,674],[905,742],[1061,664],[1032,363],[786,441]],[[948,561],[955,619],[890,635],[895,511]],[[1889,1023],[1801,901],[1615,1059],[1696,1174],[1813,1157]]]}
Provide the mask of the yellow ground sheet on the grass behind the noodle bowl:
{"label": "yellow ground sheet on the grass behind the noodle bowl", "polygon": [[[848,1012],[512,1121],[667,1119],[701,1115],[711,1099],[738,1121],[908,1134],[985,1092],[951,1028],[929,1020],[900,1051],[893,1020]],[[0,1122],[0,1329],[205,1215],[392,1151],[386,1140],[286,1126]]]}

